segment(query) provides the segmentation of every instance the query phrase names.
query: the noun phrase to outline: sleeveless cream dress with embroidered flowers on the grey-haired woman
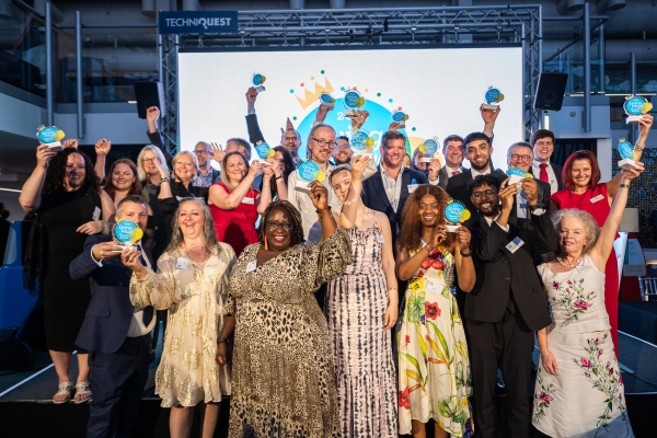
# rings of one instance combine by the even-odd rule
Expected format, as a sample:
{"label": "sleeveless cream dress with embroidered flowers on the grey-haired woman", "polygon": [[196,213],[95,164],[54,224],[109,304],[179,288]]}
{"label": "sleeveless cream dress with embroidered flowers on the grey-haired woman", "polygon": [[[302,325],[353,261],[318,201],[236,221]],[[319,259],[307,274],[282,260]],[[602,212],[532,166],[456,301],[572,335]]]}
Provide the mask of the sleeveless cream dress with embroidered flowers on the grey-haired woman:
{"label": "sleeveless cream dress with embroidered flowers on the grey-haired woman", "polygon": [[588,255],[567,273],[546,264],[539,273],[552,308],[548,348],[558,376],[539,364],[534,427],[551,437],[634,437],[604,308],[604,274]]}

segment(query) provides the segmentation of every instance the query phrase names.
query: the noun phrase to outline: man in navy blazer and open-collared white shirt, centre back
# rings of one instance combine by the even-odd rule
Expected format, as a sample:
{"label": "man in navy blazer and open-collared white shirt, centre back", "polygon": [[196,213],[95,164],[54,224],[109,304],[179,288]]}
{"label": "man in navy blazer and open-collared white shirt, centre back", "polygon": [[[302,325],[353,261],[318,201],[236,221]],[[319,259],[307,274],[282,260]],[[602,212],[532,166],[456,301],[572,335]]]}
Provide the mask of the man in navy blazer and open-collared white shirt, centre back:
{"label": "man in navy blazer and open-collared white shirt, centre back", "polygon": [[372,210],[388,216],[393,245],[401,227],[404,204],[418,184],[428,184],[427,176],[402,165],[406,154],[406,136],[389,130],[381,137],[381,164],[377,172],[362,182],[362,203]]}

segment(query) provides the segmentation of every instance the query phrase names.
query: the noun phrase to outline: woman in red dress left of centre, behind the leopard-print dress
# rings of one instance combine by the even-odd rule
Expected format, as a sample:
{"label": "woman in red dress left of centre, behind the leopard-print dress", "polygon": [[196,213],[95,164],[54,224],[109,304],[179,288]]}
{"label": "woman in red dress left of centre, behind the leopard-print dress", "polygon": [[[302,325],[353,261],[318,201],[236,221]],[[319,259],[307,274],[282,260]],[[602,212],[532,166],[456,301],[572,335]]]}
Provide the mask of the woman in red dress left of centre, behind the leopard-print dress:
{"label": "woman in red dress left of centre, behind the leopard-print dress", "polygon": [[[264,168],[264,170],[263,170]],[[238,151],[229,152],[221,163],[221,182],[210,186],[208,204],[215,219],[219,242],[232,246],[239,256],[247,245],[257,242],[255,221],[272,201],[269,181],[273,165],[254,163]],[[263,192],[252,188],[253,180],[263,170]]]}

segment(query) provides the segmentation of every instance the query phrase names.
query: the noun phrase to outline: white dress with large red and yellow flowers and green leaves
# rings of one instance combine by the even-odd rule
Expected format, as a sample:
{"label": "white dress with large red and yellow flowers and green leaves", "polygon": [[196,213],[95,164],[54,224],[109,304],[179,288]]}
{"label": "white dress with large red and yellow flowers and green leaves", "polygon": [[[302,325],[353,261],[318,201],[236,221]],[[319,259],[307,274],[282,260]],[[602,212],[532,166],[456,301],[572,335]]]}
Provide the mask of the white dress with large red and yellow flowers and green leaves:
{"label": "white dress with large red and yellow flowers and green leaves", "polygon": [[456,437],[474,431],[468,344],[451,293],[453,263],[452,254],[434,251],[408,280],[396,336],[401,435],[411,434],[412,419],[429,418]]}

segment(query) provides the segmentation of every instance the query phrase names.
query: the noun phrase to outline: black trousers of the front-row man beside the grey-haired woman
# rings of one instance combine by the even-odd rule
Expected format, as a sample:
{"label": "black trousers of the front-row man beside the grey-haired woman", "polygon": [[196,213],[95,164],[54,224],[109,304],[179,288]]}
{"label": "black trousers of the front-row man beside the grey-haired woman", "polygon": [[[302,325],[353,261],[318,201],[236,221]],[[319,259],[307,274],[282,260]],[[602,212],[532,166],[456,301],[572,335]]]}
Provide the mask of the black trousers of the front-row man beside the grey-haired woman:
{"label": "black trousers of the front-row man beside the grey-haired woman", "polygon": [[509,438],[529,436],[527,389],[531,374],[534,335],[520,313],[508,310],[502,321],[487,323],[464,319],[473,380],[474,437],[495,434],[495,384],[497,368],[506,384]]}

